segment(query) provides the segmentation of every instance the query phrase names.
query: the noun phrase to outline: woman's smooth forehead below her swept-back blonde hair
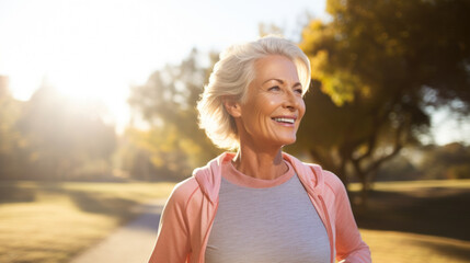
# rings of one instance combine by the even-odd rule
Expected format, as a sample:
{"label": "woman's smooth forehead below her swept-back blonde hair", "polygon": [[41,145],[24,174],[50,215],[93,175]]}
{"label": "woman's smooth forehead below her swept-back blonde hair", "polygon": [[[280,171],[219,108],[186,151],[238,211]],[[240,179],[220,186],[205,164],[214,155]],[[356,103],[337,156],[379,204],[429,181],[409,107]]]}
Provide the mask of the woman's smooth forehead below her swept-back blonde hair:
{"label": "woman's smooth forehead below her swept-back blonde hair", "polygon": [[282,79],[299,82],[296,65],[289,58],[280,55],[270,55],[254,64],[255,81]]}

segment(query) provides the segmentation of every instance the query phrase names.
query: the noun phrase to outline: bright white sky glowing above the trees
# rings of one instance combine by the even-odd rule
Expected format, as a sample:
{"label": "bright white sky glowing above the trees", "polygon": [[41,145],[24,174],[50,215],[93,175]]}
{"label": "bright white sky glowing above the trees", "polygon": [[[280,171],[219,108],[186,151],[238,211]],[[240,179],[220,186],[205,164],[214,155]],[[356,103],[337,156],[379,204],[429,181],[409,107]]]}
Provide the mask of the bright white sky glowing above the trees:
{"label": "bright white sky glowing above the trees", "polygon": [[[129,87],[154,70],[177,64],[193,47],[222,50],[252,41],[260,23],[298,41],[308,16],[328,20],[324,9],[324,0],[0,0],[0,75],[19,100],[46,81],[102,101],[107,122],[122,132],[130,117]],[[438,144],[470,134],[468,122],[435,116]]]}

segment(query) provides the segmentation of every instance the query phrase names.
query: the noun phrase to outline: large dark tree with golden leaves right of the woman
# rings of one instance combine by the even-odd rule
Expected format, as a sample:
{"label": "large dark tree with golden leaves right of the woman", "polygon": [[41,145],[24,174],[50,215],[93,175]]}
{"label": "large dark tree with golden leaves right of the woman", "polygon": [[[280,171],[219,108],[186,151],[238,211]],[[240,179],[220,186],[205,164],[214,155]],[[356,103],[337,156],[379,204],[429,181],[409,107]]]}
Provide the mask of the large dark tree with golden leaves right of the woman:
{"label": "large dark tree with golden leaves right of the woman", "polygon": [[380,165],[427,132],[426,107],[468,113],[469,11],[468,0],[329,0],[332,21],[312,21],[300,43],[313,89],[299,145],[366,193]]}

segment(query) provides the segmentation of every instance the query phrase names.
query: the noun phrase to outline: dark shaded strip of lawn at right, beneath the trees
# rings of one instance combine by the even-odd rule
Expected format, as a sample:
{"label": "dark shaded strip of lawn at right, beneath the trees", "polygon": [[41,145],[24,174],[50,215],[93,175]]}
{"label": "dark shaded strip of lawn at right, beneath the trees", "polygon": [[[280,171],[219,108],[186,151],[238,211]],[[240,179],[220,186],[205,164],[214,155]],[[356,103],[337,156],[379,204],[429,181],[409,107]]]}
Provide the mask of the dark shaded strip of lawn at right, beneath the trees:
{"label": "dark shaded strip of lawn at right, beneath the trees", "polygon": [[366,211],[355,211],[357,225],[470,241],[470,190],[424,188],[374,191]]}

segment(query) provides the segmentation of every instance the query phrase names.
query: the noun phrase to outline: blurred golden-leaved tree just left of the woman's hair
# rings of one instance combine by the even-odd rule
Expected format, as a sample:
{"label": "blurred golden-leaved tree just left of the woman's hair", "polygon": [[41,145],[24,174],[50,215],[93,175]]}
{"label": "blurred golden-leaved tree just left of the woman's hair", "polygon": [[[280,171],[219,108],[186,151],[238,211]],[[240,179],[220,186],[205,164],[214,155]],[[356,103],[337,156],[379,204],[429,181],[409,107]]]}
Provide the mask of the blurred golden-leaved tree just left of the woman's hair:
{"label": "blurred golden-leaved tree just left of the woman's hair", "polygon": [[144,137],[157,168],[168,165],[173,173],[188,176],[194,167],[218,155],[219,150],[198,128],[195,110],[215,60],[215,55],[205,56],[193,49],[180,65],[168,65],[153,72],[144,85],[131,88],[128,102],[151,127]]}

